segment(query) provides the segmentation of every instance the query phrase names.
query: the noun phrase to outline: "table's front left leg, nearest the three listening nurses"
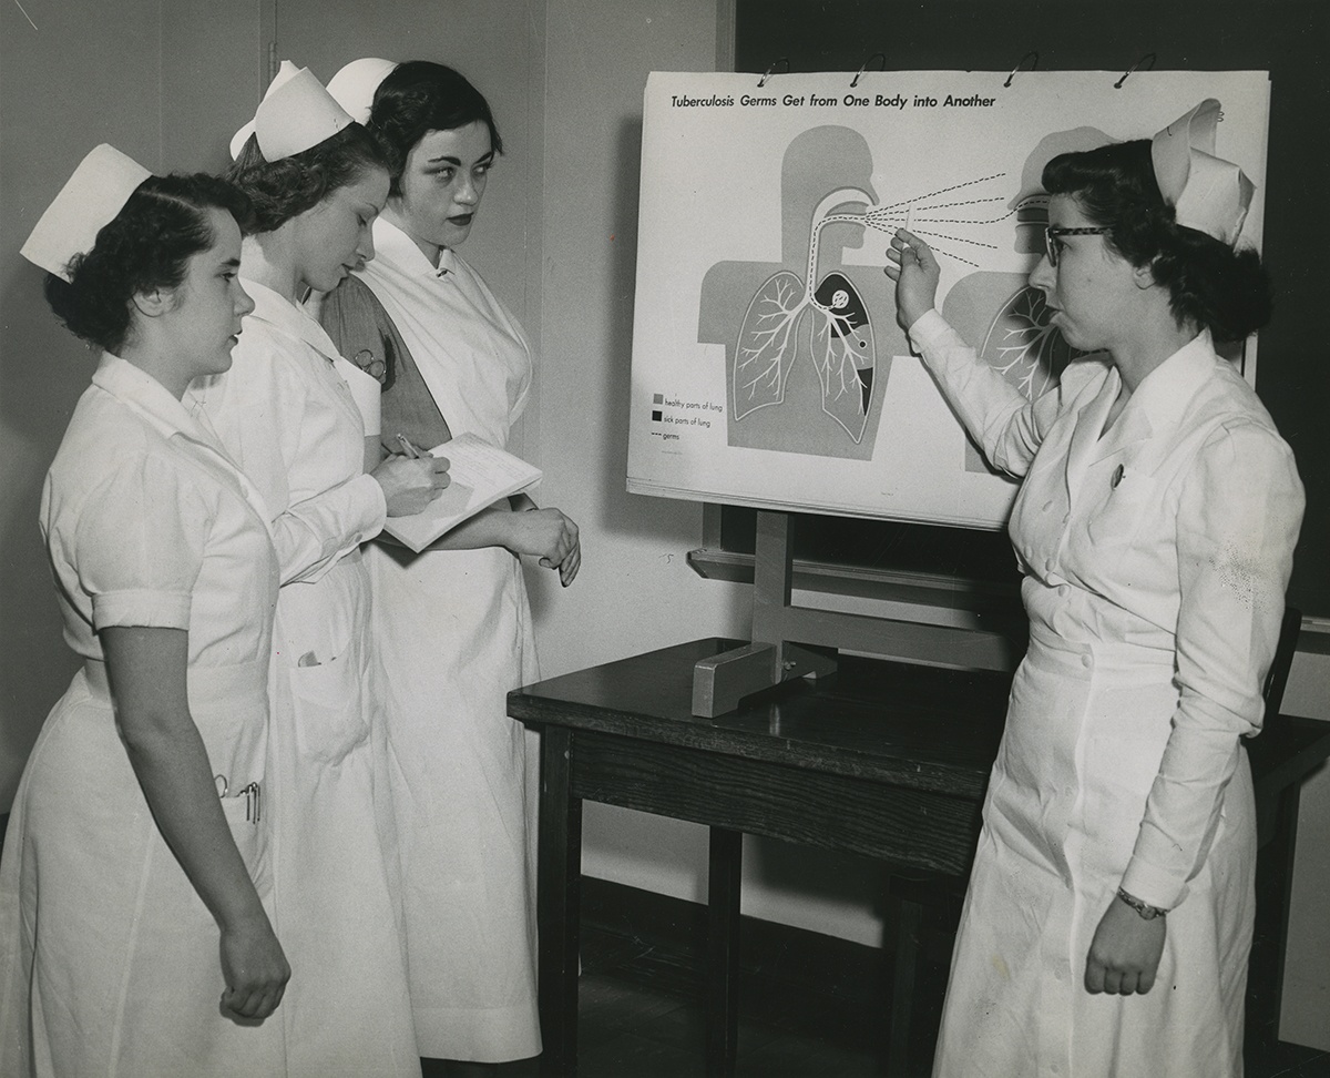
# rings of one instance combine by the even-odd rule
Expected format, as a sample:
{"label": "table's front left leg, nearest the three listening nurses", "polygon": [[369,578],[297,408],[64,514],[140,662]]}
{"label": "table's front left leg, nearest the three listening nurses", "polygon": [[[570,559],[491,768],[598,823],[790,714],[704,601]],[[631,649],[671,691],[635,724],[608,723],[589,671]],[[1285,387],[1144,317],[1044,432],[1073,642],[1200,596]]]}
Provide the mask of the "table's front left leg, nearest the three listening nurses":
{"label": "table's front left leg, nearest the three listening nurses", "polygon": [[541,1075],[577,1073],[577,973],[581,922],[581,799],[573,797],[573,735],[541,731],[537,925]]}

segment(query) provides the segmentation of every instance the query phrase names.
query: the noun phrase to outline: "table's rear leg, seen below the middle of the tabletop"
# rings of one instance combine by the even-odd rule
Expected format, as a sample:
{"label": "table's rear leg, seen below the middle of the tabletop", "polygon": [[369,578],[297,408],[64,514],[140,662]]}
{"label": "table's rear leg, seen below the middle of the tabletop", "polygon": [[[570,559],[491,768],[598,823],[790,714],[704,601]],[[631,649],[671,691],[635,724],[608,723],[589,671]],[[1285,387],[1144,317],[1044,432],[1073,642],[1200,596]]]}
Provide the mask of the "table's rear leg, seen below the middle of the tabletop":
{"label": "table's rear leg, seen below the middle of the tabletop", "polygon": [[706,1074],[734,1074],[739,1034],[739,877],[743,834],[712,828],[706,884]]}

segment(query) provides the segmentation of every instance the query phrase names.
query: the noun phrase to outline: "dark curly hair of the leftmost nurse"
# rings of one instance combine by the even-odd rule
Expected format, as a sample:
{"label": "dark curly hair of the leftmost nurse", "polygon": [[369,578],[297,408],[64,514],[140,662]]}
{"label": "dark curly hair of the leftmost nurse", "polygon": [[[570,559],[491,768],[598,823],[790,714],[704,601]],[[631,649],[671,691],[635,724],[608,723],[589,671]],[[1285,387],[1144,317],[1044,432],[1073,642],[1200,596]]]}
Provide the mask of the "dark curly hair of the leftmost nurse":
{"label": "dark curly hair of the leftmost nurse", "polygon": [[209,209],[241,225],[249,200],[215,176],[149,176],[101,228],[93,249],[70,260],[68,281],[47,274],[51,309],[77,337],[118,353],[129,337],[134,297],[178,287],[189,260],[217,242]]}

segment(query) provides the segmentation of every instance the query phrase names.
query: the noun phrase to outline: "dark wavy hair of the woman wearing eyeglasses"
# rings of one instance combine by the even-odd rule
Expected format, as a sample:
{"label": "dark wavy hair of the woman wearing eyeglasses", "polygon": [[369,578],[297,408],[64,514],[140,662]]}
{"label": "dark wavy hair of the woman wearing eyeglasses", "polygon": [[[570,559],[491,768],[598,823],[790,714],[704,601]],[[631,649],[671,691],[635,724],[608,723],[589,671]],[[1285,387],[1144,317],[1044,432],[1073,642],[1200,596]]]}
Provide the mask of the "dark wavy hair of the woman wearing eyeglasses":
{"label": "dark wavy hair of the woman wearing eyeglasses", "polygon": [[1177,224],[1154,180],[1150,142],[1115,142],[1063,153],[1044,166],[1044,190],[1069,194],[1113,249],[1150,268],[1169,293],[1178,326],[1209,329],[1216,341],[1240,341],[1270,319],[1270,281],[1250,248],[1234,250]]}

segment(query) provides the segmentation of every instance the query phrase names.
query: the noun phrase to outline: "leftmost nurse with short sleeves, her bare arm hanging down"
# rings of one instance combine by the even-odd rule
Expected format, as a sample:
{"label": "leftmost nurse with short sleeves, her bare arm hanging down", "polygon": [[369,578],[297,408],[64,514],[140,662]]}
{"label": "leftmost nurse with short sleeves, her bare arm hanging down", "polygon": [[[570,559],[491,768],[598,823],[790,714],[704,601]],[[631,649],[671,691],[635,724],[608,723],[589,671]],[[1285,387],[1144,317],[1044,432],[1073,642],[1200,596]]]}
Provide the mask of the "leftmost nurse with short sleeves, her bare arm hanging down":
{"label": "leftmost nurse with short sleeves, her bare arm hanging down", "polygon": [[[23,254],[100,351],[41,528],[82,659],[0,865],[0,1074],[281,1075],[265,771],[277,558],[190,401],[231,362],[243,200],[93,150]],[[262,1021],[267,1019],[267,1021]]]}

